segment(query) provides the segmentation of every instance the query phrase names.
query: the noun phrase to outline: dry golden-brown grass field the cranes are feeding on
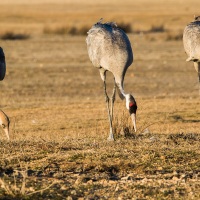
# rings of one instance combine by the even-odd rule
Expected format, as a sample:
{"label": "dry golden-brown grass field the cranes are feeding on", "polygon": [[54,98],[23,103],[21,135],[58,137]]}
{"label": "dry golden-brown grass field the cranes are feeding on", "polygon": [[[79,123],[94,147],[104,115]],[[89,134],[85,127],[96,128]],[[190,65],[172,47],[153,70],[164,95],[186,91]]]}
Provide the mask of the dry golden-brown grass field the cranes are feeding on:
{"label": "dry golden-brown grass field the cranes are feeding on", "polygon": [[[11,120],[10,142],[0,130],[0,199],[200,199],[200,96],[182,44],[199,7],[0,1],[0,108]],[[101,17],[132,29],[125,91],[137,100],[138,130],[117,97],[115,142],[106,140],[103,83],[85,44],[85,30]]]}

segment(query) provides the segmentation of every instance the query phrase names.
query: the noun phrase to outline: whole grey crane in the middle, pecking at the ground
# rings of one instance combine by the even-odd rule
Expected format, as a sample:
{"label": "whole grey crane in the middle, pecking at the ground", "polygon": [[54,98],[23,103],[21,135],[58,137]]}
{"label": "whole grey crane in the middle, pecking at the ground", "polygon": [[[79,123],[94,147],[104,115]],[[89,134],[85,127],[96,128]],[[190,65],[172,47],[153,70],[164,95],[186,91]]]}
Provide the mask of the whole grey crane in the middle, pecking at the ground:
{"label": "whole grey crane in the middle, pecking at the ground", "polygon": [[[137,104],[131,94],[124,92],[123,87],[126,70],[133,62],[132,48],[127,35],[115,23],[102,23],[100,20],[88,31],[86,43],[89,58],[94,67],[99,69],[101,79],[104,82],[104,93],[110,123],[108,140],[114,140],[112,121],[116,88],[119,97],[126,99],[126,108],[129,110],[136,131]],[[106,71],[110,71],[114,76],[114,88],[111,99],[106,91]],[[110,100],[111,106],[109,106]]]}

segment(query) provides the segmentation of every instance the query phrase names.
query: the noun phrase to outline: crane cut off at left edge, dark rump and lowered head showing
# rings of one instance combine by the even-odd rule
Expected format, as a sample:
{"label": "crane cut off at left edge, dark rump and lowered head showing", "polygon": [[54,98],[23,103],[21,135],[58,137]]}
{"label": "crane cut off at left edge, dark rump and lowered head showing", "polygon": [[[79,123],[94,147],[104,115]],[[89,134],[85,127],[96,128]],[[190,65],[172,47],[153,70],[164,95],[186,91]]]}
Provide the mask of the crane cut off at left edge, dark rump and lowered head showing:
{"label": "crane cut off at left edge, dark rump and lowered head showing", "polygon": [[[5,55],[4,55],[3,49],[0,47],[0,81],[4,79],[5,74],[6,74]],[[0,126],[5,131],[8,140],[10,139],[9,124],[10,124],[10,120],[8,116],[2,110],[0,110]]]}

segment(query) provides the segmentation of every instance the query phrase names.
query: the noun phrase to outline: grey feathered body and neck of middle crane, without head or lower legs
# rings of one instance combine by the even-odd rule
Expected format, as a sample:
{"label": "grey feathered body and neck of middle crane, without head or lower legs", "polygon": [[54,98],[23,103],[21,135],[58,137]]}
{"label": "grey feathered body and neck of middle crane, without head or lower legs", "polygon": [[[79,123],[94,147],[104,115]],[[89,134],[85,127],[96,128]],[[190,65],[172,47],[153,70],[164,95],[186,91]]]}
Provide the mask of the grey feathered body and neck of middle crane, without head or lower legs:
{"label": "grey feathered body and neck of middle crane, without head or lower legs", "polygon": [[123,82],[127,68],[133,62],[133,53],[127,35],[113,22],[96,23],[86,39],[88,54],[92,64],[101,68],[100,73],[108,70],[113,73],[115,82],[123,99]]}

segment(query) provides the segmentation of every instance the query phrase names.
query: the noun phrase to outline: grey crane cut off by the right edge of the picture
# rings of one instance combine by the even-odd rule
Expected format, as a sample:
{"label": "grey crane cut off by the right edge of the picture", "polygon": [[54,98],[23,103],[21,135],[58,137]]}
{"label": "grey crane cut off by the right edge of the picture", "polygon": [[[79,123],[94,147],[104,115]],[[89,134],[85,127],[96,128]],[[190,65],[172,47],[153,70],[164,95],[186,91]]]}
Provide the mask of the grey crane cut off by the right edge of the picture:
{"label": "grey crane cut off by the right edge of the picture", "polygon": [[200,94],[200,16],[195,17],[183,32],[183,45],[188,55],[186,61],[194,62],[194,67],[199,77],[199,94]]}

